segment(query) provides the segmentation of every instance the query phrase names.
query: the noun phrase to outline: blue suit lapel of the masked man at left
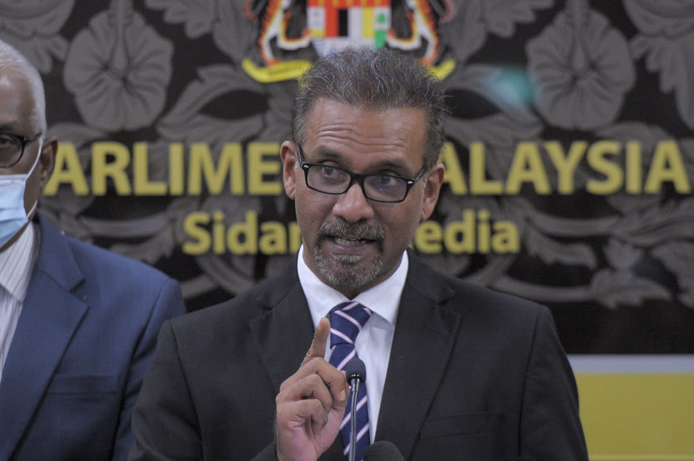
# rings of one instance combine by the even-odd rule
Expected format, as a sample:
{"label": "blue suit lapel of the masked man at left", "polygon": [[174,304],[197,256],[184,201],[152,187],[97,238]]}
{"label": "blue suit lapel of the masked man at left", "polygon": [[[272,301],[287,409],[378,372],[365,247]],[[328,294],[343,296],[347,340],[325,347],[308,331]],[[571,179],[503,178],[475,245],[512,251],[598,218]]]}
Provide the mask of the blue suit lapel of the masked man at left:
{"label": "blue suit lapel of the masked man at left", "polygon": [[67,242],[41,218],[41,244],[0,383],[0,459],[31,424],[65,348],[87,312],[71,289],[83,276]]}

